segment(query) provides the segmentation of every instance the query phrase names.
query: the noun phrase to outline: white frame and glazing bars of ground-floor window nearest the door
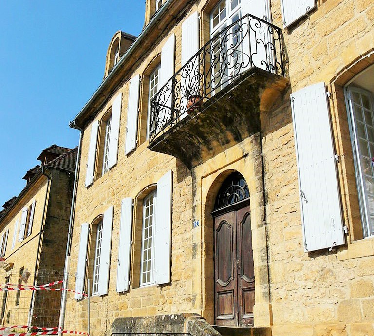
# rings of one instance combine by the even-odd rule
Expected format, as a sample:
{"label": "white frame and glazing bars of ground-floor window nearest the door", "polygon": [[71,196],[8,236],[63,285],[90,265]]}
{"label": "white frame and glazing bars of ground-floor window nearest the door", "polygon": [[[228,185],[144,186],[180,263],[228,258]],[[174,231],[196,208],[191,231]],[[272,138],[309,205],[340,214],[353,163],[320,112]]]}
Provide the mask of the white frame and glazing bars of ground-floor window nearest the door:
{"label": "white frame and glazing bars of ground-floor window nearest the door", "polygon": [[[156,220],[156,190],[152,191],[150,194],[148,194],[144,200],[143,200],[143,216],[142,216],[142,248],[141,248],[141,261],[140,261],[140,279],[139,279],[139,286],[144,287],[144,286],[149,286],[154,284],[154,237],[155,237],[155,220]],[[150,204],[150,200],[152,200],[152,203]],[[148,205],[147,205],[148,203]],[[148,216],[146,216],[147,209],[150,209],[150,206],[152,206],[152,213],[148,212]],[[149,219],[152,218],[152,225],[150,226]],[[148,226],[146,227],[146,222],[148,219]],[[151,227],[151,235],[148,235],[147,238],[145,238],[145,232],[146,229],[149,232],[149,229]],[[151,240],[151,247],[148,247],[147,242],[147,250],[150,251],[150,256],[147,256],[147,260],[144,260],[144,253],[145,253],[145,240]],[[150,267],[145,270],[144,267],[144,262],[150,262]],[[150,279],[149,281],[143,281],[143,276],[147,273],[150,273]]]}

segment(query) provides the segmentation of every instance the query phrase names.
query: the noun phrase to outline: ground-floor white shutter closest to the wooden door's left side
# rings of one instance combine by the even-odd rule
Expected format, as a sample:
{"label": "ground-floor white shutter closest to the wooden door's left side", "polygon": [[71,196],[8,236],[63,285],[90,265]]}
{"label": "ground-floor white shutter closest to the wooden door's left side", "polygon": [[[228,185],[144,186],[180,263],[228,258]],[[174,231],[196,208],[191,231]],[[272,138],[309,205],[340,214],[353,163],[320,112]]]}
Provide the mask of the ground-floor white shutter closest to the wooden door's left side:
{"label": "ground-floor white shutter closest to the wooden door's left side", "polygon": [[158,285],[170,282],[172,184],[171,170],[157,182],[154,264]]}

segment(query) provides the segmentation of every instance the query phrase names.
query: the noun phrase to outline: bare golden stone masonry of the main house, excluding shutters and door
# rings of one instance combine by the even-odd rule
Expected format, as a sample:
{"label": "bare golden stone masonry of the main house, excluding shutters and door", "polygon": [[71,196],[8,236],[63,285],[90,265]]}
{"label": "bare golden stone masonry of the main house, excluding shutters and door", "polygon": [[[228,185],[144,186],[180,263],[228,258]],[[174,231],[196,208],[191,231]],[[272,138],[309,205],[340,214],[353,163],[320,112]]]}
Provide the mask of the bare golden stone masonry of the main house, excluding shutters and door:
{"label": "bare golden stone masonry of the main house, excluding shutters and door", "polygon": [[[198,1],[196,10],[212,8],[214,1]],[[271,1],[273,23],[282,27],[281,1]],[[206,12],[202,13],[206,20]],[[146,16],[147,17],[147,16]],[[206,27],[206,21],[201,25]],[[139,146],[124,155],[129,82],[113,92],[93,119],[100,120],[119,91],[123,93],[118,163],[84,186],[90,142],[87,123],[82,142],[75,207],[72,261],[74,275],[79,248],[80,224],[92,223],[114,206],[109,294],[91,298],[93,336],[113,332],[119,317],[153,316],[181,312],[199,313],[214,322],[212,217],[215,195],[224,178],[234,170],[246,178],[251,195],[253,248],[256,276],[255,326],[273,326],[273,335],[373,335],[374,244],[359,235],[357,190],[347,114],[341,87],[358,71],[373,63],[360,57],[374,48],[374,3],[371,0],[318,1],[317,9],[293,26],[283,29],[291,88],[271,111],[261,112],[261,131],[233,145],[189,171],[171,156],[150,152],[145,140],[147,94],[141,93]],[[176,69],[181,66],[181,22],[168,27],[176,35]],[[168,33],[145,53],[135,74],[149,75]],[[209,39],[206,30],[201,45]],[[354,64],[358,64],[353,67]],[[365,66],[363,66],[365,65]],[[349,70],[348,70],[349,69]],[[305,253],[302,244],[299,187],[289,95],[309,84],[324,81],[332,93],[329,100],[343,217],[349,227],[347,246],[332,252]],[[142,83],[141,88],[147,88]],[[99,139],[99,142],[102,139]],[[262,160],[263,156],[263,170]],[[142,191],[173,170],[171,284],[139,288],[139,240],[133,240],[130,291],[115,291],[120,204],[124,197],[136,199]],[[133,232],[139,231],[134,211]],[[192,229],[192,221],[200,226]],[[358,228],[357,228],[358,227]],[[90,275],[88,275],[90,277]],[[91,276],[92,277],[92,276]],[[74,276],[71,284],[75,284]],[[70,296],[72,300],[73,295]],[[75,318],[87,328],[87,299],[70,305],[67,320]]]}

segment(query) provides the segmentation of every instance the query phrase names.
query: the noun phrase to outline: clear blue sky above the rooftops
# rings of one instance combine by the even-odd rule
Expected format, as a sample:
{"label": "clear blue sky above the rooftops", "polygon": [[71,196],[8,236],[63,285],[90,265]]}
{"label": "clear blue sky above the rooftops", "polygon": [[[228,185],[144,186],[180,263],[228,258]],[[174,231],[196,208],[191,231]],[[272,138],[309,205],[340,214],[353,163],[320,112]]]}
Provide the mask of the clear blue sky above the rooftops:
{"label": "clear blue sky above the rooftops", "polygon": [[139,35],[145,0],[0,0],[0,209],[100,85],[117,30]]}

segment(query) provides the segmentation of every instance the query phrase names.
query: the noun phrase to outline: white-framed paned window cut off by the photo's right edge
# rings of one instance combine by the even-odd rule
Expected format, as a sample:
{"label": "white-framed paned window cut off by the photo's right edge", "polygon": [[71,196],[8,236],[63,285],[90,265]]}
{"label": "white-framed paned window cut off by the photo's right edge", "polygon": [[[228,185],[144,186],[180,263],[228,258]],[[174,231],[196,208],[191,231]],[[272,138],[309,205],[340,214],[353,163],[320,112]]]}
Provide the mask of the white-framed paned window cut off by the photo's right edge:
{"label": "white-framed paned window cut off by the photo's right edge", "polygon": [[374,93],[367,90],[373,85],[368,74],[346,88],[363,237],[374,235]]}

